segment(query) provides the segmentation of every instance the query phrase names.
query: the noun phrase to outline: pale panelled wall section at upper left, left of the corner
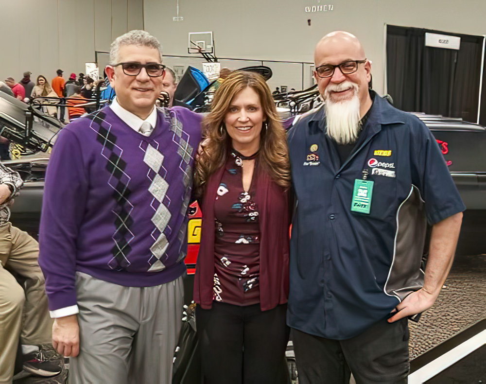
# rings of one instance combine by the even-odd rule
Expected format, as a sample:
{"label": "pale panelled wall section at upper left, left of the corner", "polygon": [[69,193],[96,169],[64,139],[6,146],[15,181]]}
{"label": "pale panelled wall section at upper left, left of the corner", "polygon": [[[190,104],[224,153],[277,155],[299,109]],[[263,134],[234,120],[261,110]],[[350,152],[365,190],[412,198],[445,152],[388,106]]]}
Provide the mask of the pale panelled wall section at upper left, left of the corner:
{"label": "pale panelled wall section at upper left, left of the corner", "polygon": [[19,81],[56,70],[85,72],[95,51],[109,51],[113,39],[143,28],[142,0],[0,0],[0,80]]}

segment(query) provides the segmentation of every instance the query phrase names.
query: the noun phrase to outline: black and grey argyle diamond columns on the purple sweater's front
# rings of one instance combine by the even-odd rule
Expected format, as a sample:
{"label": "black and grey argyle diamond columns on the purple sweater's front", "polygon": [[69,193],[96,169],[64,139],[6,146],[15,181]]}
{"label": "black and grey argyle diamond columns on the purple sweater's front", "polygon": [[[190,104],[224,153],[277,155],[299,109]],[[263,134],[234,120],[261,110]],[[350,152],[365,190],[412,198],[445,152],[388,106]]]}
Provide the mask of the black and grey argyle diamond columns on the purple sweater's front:
{"label": "black and grey argyle diamond columns on the purple sweater's front", "polygon": [[[156,142],[157,138],[153,135],[153,138],[150,137],[140,140],[139,145],[139,150],[143,151],[141,154],[143,163],[141,165],[147,165],[146,177],[150,180],[146,184],[148,187],[148,191],[146,190],[146,192],[150,193],[148,196],[153,197],[153,199],[147,199],[150,206],[148,209],[154,209],[151,217],[154,229],[148,235],[153,239],[152,246],[150,247],[151,255],[148,256],[149,260],[147,261],[147,271],[150,272],[164,270],[168,255],[171,255],[169,265],[172,265],[174,262],[172,258],[175,259],[177,257],[177,262],[184,259],[185,252],[182,252],[182,244],[184,243],[187,228],[183,229],[179,227],[180,221],[178,215],[184,215],[186,213],[191,196],[191,162],[194,152],[194,148],[190,144],[192,143],[190,140],[191,135],[188,131],[184,130],[183,121],[179,121],[175,112],[162,109],[162,113],[165,116],[166,122],[170,123],[170,133],[166,131],[164,135],[169,133],[172,136],[172,141],[169,136],[169,140],[164,141],[163,145],[160,146]],[[161,116],[159,113],[159,117]],[[130,202],[130,198],[133,198],[132,191],[136,191],[137,196],[143,193],[143,191],[140,191],[139,185],[133,184],[135,179],[130,178],[126,174],[126,154],[128,152],[125,149],[125,156],[123,156],[123,150],[117,145],[117,135],[113,134],[113,132],[118,131],[112,129],[111,124],[105,120],[104,112],[98,111],[88,118],[91,120],[90,128],[97,134],[96,140],[102,145],[101,156],[106,160],[104,167],[109,172],[108,184],[113,191],[112,195],[116,201],[116,207],[113,209],[113,224],[115,227],[112,236],[114,242],[112,248],[113,258],[109,261],[108,265],[113,270],[123,271],[130,266],[129,254],[133,252],[130,243],[134,239],[132,230],[135,224],[132,219],[134,207]],[[122,141],[121,137],[118,139],[120,142]],[[165,153],[165,151],[168,152]],[[167,165],[164,167],[164,157],[165,155],[168,156],[169,153],[171,154],[170,167],[166,168]],[[175,167],[173,168],[173,166]],[[130,169],[132,169],[131,166]],[[168,175],[171,177],[170,179],[167,178]],[[184,184],[184,192],[181,194],[175,195],[174,192],[168,194],[171,191],[168,180],[172,180],[173,177],[174,180],[177,180],[177,183],[181,183],[182,181]],[[181,207],[180,210],[178,209],[179,207]],[[175,220],[174,215],[177,216],[177,220]],[[173,217],[174,219],[171,221]],[[173,233],[174,228],[171,228],[173,222],[174,225],[177,223],[177,236],[174,236],[176,235]],[[148,225],[150,226],[150,223]],[[145,226],[146,224],[143,225],[143,227]],[[171,243],[174,242],[174,244],[170,244],[169,241]],[[172,249],[173,246],[175,249]],[[135,255],[132,255],[132,257],[135,257]],[[143,257],[143,254],[137,255],[137,257]]]}

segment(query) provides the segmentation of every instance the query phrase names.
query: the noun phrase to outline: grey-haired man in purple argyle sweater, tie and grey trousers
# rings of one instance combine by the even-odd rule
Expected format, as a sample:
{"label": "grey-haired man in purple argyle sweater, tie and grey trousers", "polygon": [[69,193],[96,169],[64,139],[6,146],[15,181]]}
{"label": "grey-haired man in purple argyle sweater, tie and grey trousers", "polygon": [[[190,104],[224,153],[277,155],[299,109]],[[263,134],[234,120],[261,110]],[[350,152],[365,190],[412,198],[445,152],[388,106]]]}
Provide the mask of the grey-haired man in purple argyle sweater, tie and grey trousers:
{"label": "grey-haired man in purple argyle sweater, tie and grey trousers", "polygon": [[115,100],[52,150],[39,264],[71,384],[171,382],[201,117],[156,108],[164,68],[155,37],[118,37],[106,67]]}

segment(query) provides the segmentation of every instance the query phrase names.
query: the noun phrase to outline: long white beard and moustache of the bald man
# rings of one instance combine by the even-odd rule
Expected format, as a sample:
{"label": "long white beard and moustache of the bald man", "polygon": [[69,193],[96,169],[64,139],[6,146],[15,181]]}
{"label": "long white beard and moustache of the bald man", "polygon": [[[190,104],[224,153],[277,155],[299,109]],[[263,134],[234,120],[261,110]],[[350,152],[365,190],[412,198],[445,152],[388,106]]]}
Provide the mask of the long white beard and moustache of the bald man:
{"label": "long white beard and moustache of the bald man", "polygon": [[[358,89],[355,84],[341,83],[335,89],[326,88],[325,91],[325,104],[324,109],[326,111],[327,121],[327,135],[335,140],[338,144],[352,144],[358,140],[358,136],[361,132],[360,122],[360,99],[358,96]],[[346,89],[347,85],[352,85],[355,89],[354,95],[351,99],[333,102],[329,97],[329,90],[339,91]]]}

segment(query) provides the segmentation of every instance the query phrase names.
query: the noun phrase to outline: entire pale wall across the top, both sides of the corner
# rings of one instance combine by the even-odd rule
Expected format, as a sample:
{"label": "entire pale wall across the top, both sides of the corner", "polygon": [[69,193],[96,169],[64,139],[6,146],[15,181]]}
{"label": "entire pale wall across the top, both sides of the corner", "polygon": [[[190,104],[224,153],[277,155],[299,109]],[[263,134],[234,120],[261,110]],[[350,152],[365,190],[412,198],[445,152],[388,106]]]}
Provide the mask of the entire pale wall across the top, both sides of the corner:
{"label": "entire pale wall across the top, both sides of the corner", "polygon": [[[109,51],[115,37],[143,26],[160,39],[166,54],[187,55],[189,32],[213,31],[220,57],[298,62],[312,62],[317,40],[342,29],[361,39],[373,62],[374,87],[381,92],[384,23],[486,34],[484,0],[179,0],[184,20],[174,22],[176,4],[0,0],[0,79],[20,80],[26,70],[33,78],[44,74],[48,79],[58,68],[65,76],[84,72],[95,51]],[[333,11],[305,12],[306,6],[324,4],[332,4]],[[281,75],[276,81],[284,85]]]}

